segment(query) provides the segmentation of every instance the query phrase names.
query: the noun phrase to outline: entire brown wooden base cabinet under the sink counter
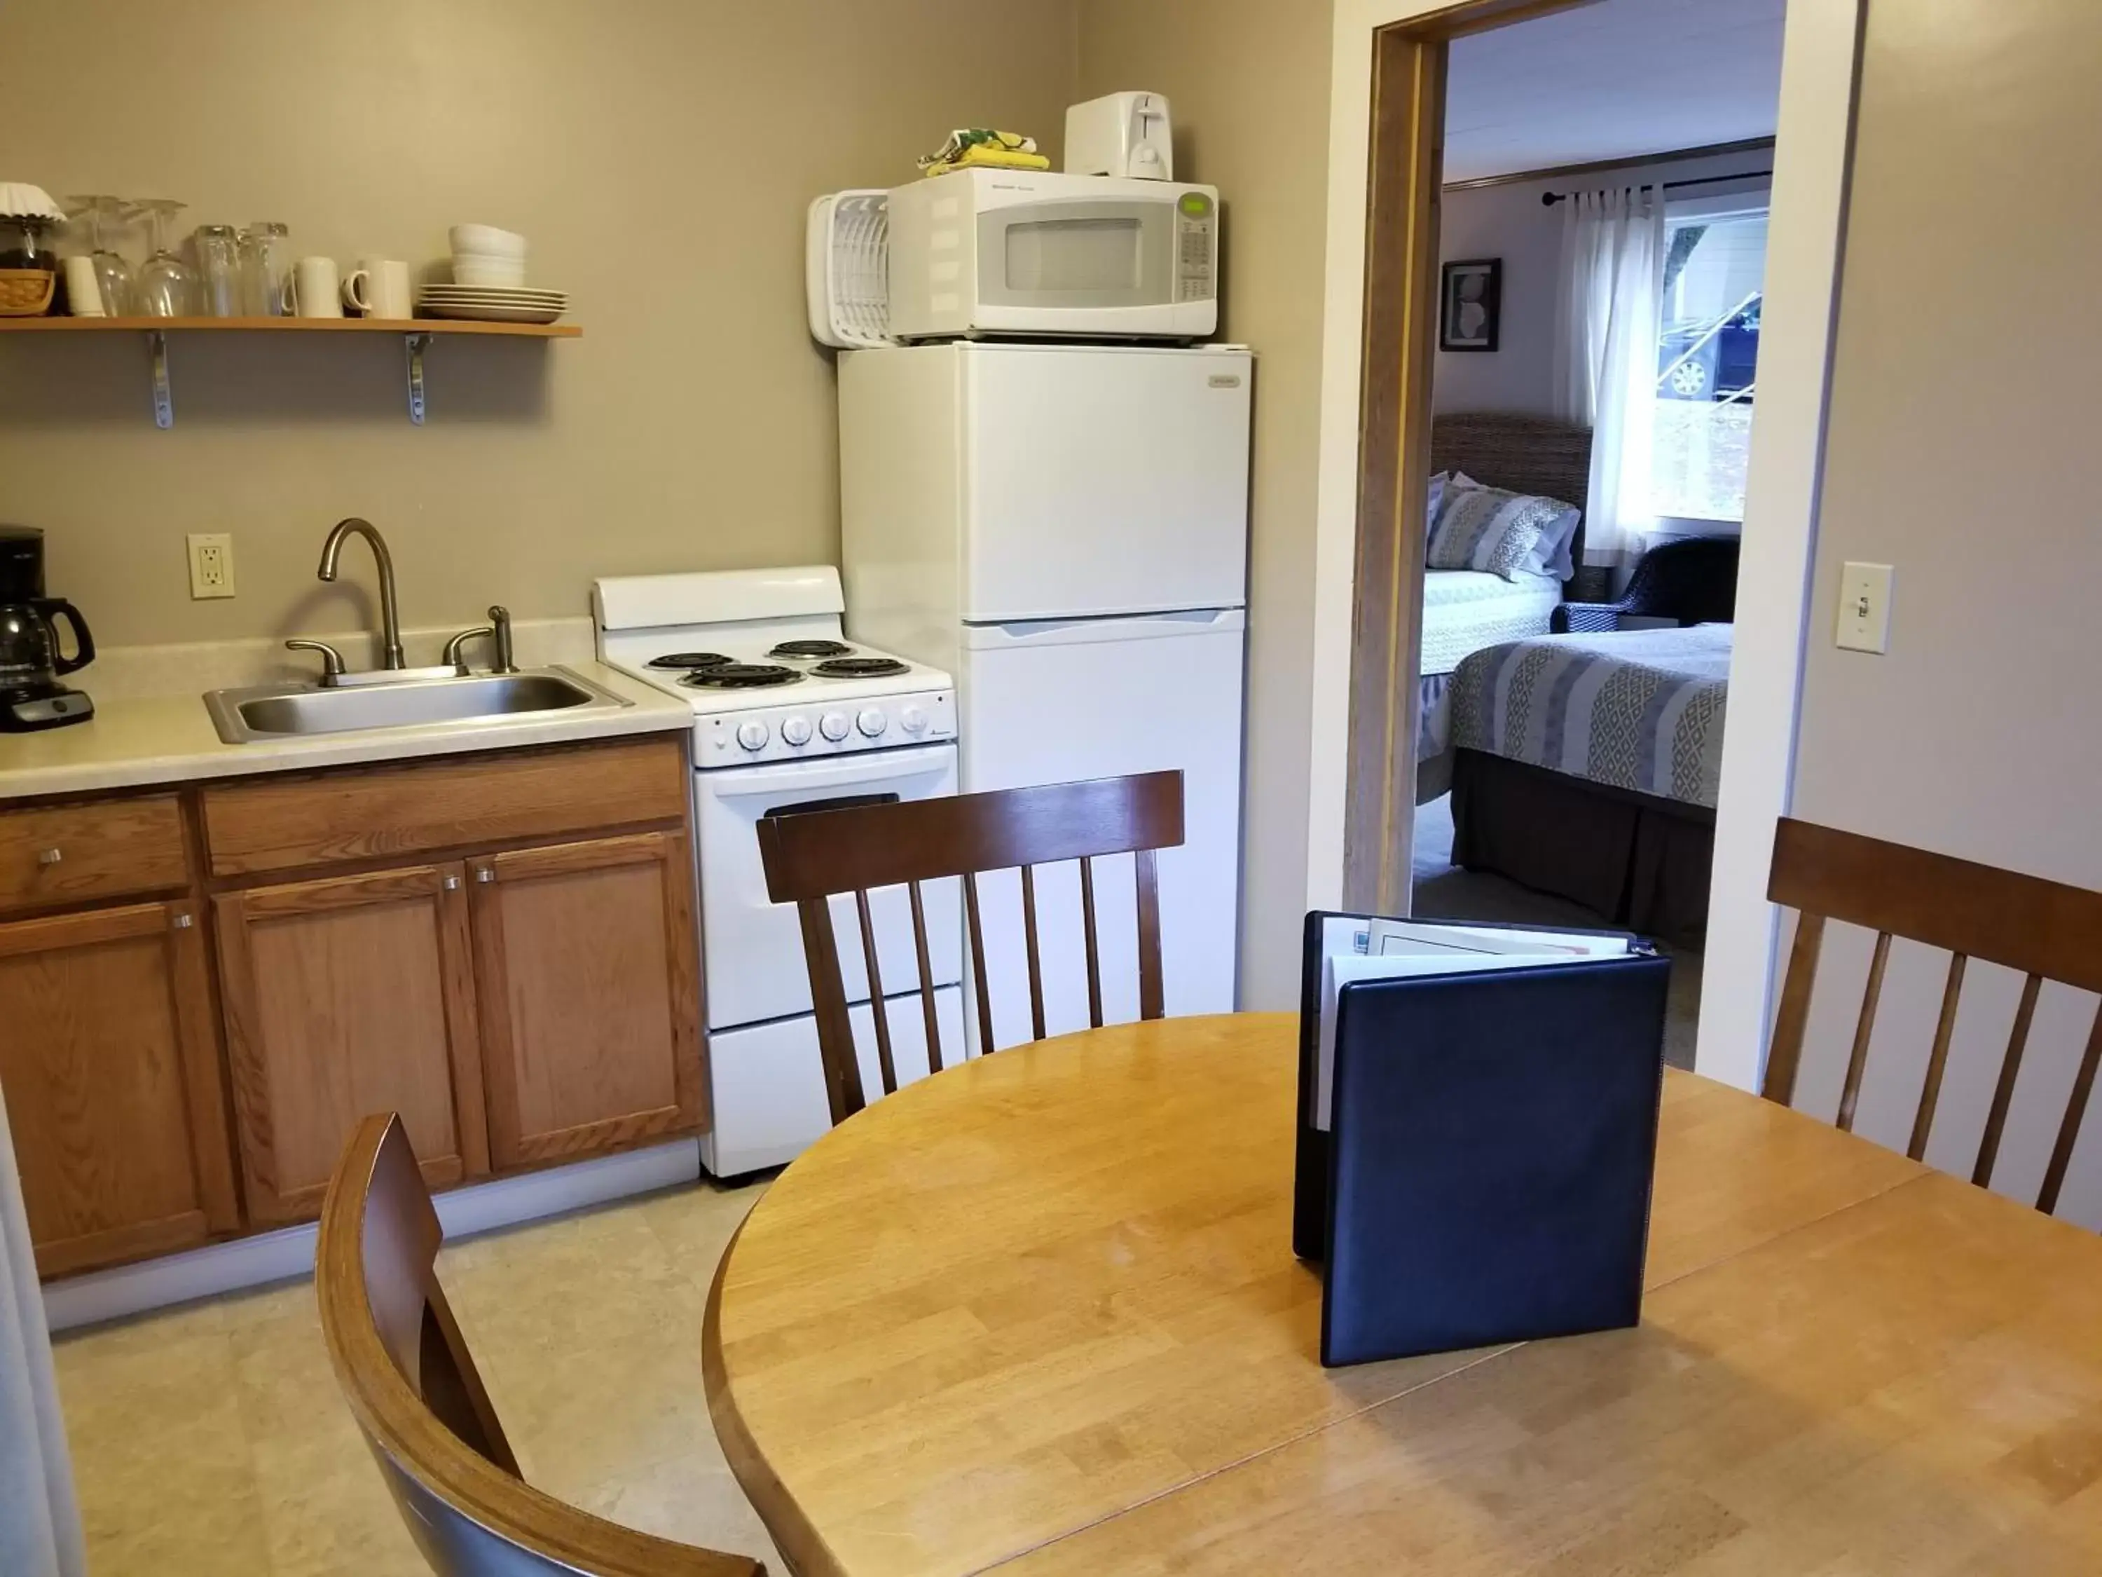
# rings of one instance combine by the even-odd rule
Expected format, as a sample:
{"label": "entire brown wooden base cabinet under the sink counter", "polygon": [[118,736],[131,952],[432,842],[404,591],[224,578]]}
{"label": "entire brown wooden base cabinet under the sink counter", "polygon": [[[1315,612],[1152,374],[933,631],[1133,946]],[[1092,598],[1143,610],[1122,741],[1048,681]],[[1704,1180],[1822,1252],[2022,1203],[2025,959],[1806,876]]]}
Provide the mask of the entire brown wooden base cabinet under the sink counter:
{"label": "entire brown wooden base cabinet under the sink counter", "polygon": [[689,774],[660,734],[0,807],[40,1272],[309,1220],[368,1112],[433,1188],[702,1127]]}

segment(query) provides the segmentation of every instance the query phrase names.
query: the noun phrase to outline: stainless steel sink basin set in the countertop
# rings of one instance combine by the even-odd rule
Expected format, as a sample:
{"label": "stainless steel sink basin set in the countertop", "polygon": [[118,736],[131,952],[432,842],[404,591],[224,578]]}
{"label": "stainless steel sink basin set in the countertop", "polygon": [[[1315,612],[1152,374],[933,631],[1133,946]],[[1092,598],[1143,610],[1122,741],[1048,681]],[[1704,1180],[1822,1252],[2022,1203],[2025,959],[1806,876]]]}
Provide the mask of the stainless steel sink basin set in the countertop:
{"label": "stainless steel sink basin set in the countertop", "polygon": [[324,688],[311,683],[208,690],[204,706],[227,744],[370,728],[488,723],[530,713],[614,711],[633,702],[568,669],[475,673],[460,679],[404,679]]}

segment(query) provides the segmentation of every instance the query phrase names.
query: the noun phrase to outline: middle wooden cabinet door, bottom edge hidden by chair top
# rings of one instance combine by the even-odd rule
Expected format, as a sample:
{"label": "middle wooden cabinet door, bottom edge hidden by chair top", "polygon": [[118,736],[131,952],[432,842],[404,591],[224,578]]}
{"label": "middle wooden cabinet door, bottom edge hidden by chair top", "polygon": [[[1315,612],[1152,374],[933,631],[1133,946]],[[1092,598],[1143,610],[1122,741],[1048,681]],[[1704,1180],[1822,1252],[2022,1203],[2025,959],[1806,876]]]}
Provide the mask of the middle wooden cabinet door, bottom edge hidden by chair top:
{"label": "middle wooden cabinet door, bottom edge hidden by chair top", "polygon": [[401,1114],[431,1188],[488,1171],[460,864],[217,904],[235,1135],[259,1222],[315,1215],[368,1112]]}

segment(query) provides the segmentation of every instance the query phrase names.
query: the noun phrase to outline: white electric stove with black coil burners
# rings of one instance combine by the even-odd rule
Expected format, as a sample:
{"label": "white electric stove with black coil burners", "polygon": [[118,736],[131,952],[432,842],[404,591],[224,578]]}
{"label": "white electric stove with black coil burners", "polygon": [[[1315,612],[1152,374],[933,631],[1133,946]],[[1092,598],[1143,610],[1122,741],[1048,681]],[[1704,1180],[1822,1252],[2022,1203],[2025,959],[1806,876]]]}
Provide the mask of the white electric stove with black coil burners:
{"label": "white electric stove with black coil burners", "polygon": [[[830,1127],[803,936],[767,900],[763,816],[956,793],[956,692],[940,669],[851,643],[839,572],[725,570],[599,580],[599,658],[694,706],[694,833],[719,1177],[792,1161]],[[944,1056],[963,1053],[963,913],[929,883],[927,938]],[[898,1081],[925,1077],[919,957],[904,889],[870,894]],[[862,1087],[883,1089],[851,898],[832,900]]]}

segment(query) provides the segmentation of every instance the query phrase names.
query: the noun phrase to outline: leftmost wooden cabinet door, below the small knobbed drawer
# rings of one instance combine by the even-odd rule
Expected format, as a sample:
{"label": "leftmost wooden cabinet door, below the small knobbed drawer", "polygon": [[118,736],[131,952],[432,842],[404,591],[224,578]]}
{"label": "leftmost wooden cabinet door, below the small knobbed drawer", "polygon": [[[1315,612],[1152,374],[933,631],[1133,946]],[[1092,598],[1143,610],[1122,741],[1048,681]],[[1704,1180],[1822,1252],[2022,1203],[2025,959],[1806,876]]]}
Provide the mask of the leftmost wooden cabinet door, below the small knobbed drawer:
{"label": "leftmost wooden cabinet door, below the small knobbed drawer", "polygon": [[191,904],[0,925],[0,1091],[40,1274],[240,1226]]}

